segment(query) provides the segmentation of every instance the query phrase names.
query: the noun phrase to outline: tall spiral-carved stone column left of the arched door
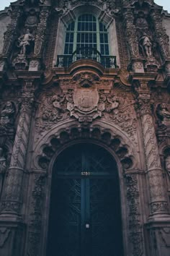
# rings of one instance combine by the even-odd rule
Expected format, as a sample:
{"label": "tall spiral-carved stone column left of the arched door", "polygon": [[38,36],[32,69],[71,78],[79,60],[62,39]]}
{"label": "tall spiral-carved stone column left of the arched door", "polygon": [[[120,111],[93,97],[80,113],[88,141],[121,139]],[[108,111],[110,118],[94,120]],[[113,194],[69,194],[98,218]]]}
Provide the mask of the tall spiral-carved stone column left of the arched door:
{"label": "tall spiral-carved stone column left of the arched door", "polygon": [[32,119],[32,102],[35,88],[32,81],[26,81],[22,90],[17,133],[14,139],[11,163],[6,178],[4,198],[2,198],[1,215],[5,217],[19,216],[22,207],[22,179],[27,156],[27,145]]}

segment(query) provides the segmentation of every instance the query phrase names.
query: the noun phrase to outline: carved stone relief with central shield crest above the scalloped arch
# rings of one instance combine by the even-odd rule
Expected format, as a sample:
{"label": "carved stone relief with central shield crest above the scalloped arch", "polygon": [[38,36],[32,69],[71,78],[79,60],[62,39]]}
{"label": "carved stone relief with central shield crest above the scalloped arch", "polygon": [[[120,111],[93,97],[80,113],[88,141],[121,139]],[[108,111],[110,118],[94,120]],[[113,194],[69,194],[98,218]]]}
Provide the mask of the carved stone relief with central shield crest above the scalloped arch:
{"label": "carved stone relief with central shield crest above the scalloped arch", "polygon": [[36,116],[36,137],[54,124],[70,117],[89,124],[103,118],[114,122],[136,142],[135,99],[131,93],[112,88],[112,80],[100,80],[88,72],[77,74],[72,80],[59,81],[60,88],[41,93]]}

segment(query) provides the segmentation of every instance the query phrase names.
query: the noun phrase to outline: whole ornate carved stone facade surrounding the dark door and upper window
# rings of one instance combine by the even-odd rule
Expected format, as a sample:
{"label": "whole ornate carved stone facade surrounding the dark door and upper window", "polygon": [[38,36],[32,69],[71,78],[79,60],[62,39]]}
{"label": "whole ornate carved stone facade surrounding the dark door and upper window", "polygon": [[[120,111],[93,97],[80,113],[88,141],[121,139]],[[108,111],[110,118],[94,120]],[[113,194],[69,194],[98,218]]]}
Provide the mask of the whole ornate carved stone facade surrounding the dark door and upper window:
{"label": "whole ornate carved stone facade surrounding the dark door and upper window", "polygon": [[[103,34],[100,49],[85,55],[71,41],[70,24],[87,13],[108,35],[110,56],[99,52]],[[18,0],[0,24],[9,14],[0,55],[0,255],[50,256],[55,163],[73,145],[94,144],[116,163],[119,256],[169,256],[169,14],[153,0]]]}

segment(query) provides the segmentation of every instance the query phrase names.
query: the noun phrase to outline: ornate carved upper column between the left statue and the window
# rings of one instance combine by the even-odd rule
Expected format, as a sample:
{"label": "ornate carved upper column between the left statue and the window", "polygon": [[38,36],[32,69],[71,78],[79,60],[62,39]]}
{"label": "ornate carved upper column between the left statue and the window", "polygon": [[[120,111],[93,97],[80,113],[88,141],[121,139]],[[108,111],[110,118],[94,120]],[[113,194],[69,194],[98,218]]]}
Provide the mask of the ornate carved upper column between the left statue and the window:
{"label": "ornate carved upper column between the left statue and the window", "polygon": [[47,30],[49,10],[47,7],[43,7],[40,12],[40,22],[37,25],[37,33],[35,36],[35,55],[40,55],[43,43],[45,42],[45,33]]}

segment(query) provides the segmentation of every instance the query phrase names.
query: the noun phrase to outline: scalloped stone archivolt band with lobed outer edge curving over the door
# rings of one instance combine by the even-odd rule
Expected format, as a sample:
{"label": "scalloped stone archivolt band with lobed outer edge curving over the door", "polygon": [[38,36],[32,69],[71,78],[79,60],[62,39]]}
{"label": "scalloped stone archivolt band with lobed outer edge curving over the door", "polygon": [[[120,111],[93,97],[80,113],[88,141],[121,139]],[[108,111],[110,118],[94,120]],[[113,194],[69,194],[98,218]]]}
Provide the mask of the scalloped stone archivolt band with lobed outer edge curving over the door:
{"label": "scalloped stone archivolt band with lobed outer edge curving over the door", "polygon": [[[68,127],[68,124],[65,124],[66,126]],[[75,124],[70,128],[58,129],[58,132],[53,130],[50,134],[48,135],[48,142],[45,138],[42,139],[41,145],[39,144],[35,149],[35,152],[38,152],[39,148],[35,163],[39,169],[47,171],[49,163],[55,157],[56,152],[76,142],[94,142],[104,145],[114,152],[116,158],[122,163],[124,170],[134,168],[135,156],[130,146],[125,143],[125,140],[123,142],[122,137],[113,134],[109,129],[102,129],[99,126],[81,127]]]}

